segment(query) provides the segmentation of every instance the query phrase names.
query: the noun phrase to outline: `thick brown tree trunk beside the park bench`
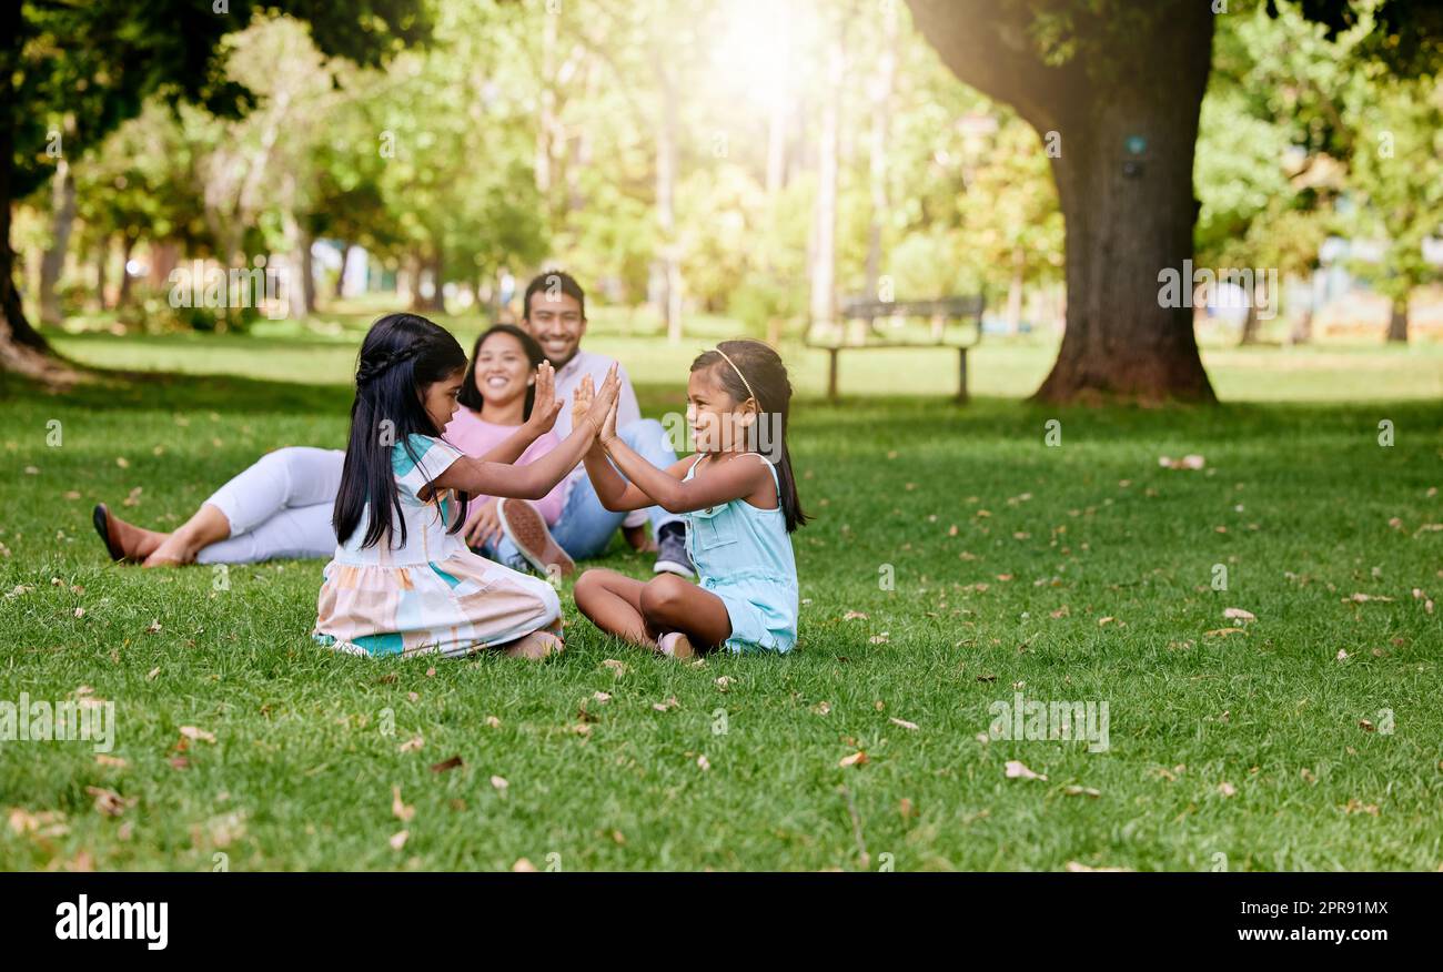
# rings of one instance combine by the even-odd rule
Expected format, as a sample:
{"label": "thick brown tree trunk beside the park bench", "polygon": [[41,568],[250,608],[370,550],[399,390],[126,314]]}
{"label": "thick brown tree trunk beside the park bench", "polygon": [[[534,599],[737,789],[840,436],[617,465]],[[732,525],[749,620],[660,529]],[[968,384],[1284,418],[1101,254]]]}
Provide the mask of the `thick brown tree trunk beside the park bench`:
{"label": "thick brown tree trunk beside the park bench", "polygon": [[[1066,330],[1035,398],[1215,401],[1192,309],[1160,299],[1159,274],[1192,257],[1198,114],[1212,56],[1209,4],[1157,0],[1128,29],[1079,14],[1104,55],[1049,66],[1029,4],[908,0],[960,79],[1061,136],[1051,159],[1066,222]],[[1130,154],[1128,141],[1140,153]],[[1182,293],[1192,281],[1182,281]],[[1162,306],[1177,303],[1176,307]]]}

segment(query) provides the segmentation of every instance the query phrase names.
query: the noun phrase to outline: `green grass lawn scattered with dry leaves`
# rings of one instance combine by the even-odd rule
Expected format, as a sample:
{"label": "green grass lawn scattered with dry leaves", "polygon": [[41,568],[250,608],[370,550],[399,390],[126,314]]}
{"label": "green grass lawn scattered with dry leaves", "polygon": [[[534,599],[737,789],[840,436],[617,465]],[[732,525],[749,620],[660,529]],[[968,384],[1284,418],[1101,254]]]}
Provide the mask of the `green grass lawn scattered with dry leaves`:
{"label": "green grass lawn scattered with dry leaves", "polygon": [[[599,337],[680,407],[696,349]],[[553,662],[352,659],[309,637],[320,561],[108,562],[94,502],[165,526],[268,449],[341,444],[354,342],[68,336],[188,374],[0,401],[0,701],[88,688],[123,760],[0,743],[0,868],[1443,865],[1443,613],[1413,594],[1443,600],[1436,349],[1209,350],[1215,410],[1026,405],[1048,356],[1001,343],[967,408],[949,356],[903,352],[828,407],[802,359],[788,658],[644,656],[564,591]],[[1016,692],[1105,702],[1107,751],[990,738]]]}

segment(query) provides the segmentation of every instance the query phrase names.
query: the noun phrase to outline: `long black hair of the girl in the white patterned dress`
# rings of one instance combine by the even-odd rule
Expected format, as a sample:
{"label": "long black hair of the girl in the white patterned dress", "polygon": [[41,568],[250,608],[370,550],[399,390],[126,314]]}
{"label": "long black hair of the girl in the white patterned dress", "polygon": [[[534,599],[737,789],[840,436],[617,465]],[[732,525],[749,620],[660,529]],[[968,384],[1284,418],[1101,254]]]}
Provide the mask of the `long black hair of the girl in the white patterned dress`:
{"label": "long black hair of the girl in the white patterned dress", "polygon": [[[440,437],[442,430],[426,411],[421,397],[427,385],[466,366],[466,352],[446,329],[416,314],[387,314],[371,324],[356,361],[356,399],[351,405],[351,438],[341,473],[335,513],[336,536],[346,542],[361,526],[369,505],[361,547],[374,547],[392,522],[401,526],[405,547],[405,518],[395,489],[391,447],[398,444],[413,461],[420,461],[411,436]],[[465,493],[450,532],[466,519]],[[390,516],[395,511],[395,519]]]}

